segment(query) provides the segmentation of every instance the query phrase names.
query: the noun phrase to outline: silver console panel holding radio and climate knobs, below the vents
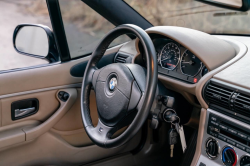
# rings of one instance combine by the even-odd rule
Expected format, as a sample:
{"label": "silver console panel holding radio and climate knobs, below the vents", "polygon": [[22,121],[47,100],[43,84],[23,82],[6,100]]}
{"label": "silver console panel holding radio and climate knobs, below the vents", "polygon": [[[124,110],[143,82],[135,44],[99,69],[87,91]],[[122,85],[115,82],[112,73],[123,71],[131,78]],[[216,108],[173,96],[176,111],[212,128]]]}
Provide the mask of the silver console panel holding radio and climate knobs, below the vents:
{"label": "silver console panel holding radio and climate knobs, below the vents", "polygon": [[250,125],[208,109],[197,166],[250,165]]}

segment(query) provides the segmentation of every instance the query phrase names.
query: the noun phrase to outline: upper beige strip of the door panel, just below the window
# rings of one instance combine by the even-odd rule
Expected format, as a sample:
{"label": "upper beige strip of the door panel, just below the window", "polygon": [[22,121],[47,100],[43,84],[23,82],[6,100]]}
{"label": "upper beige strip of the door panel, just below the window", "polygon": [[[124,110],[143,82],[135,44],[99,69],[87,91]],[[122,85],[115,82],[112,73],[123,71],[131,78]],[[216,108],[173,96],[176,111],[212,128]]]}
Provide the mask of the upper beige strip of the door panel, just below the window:
{"label": "upper beige strip of the door panel, just below the window", "polygon": [[[121,45],[107,50],[105,55],[117,52],[120,47]],[[33,93],[39,89],[81,83],[82,78],[71,76],[70,69],[88,59],[89,57],[84,57],[67,63],[0,74],[0,98],[20,95],[27,91]]]}

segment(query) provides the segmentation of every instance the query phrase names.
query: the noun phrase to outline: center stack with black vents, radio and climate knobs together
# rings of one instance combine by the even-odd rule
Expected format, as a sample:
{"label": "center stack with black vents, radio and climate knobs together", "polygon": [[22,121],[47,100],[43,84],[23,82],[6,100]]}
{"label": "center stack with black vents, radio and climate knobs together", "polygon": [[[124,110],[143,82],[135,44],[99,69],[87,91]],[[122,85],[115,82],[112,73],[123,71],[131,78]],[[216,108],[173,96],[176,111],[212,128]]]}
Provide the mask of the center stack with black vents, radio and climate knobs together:
{"label": "center stack with black vents, radio and climate knobs together", "polygon": [[209,108],[197,166],[250,166],[249,92],[212,80],[203,93]]}

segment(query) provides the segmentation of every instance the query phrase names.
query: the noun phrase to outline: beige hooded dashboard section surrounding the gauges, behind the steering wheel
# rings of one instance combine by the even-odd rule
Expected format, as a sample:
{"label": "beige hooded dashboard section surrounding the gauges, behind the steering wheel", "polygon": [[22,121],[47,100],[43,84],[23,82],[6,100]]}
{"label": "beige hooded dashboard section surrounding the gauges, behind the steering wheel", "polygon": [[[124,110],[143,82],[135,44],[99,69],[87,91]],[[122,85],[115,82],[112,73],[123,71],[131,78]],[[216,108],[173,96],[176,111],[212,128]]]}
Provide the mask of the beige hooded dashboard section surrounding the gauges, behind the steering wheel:
{"label": "beige hooded dashboard section surrounding the gauges, behind the steering wheel", "polygon": [[[244,50],[235,40],[188,28],[158,26],[146,32],[155,47],[158,79],[194,105],[197,97],[205,108],[207,104],[201,96],[203,85],[233,62],[236,50]],[[138,38],[123,45],[119,54],[121,57],[116,56],[114,61],[124,59],[126,54],[128,59],[132,59],[131,63],[147,67],[145,51]]]}

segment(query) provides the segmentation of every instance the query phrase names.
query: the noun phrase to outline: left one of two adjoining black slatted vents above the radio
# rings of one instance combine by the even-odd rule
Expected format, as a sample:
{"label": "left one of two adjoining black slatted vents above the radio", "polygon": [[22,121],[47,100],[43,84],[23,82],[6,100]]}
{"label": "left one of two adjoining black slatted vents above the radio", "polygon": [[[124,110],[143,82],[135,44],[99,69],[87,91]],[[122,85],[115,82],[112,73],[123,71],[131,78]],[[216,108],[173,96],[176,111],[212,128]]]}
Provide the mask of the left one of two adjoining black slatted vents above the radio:
{"label": "left one of two adjoining black slatted vents above the radio", "polygon": [[217,105],[230,109],[230,99],[234,91],[210,81],[204,91],[204,97],[209,105]]}

